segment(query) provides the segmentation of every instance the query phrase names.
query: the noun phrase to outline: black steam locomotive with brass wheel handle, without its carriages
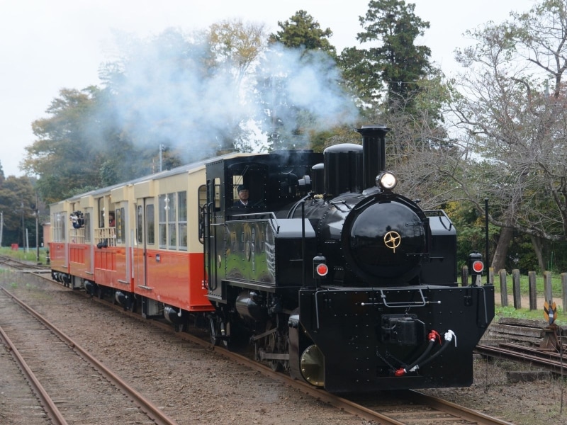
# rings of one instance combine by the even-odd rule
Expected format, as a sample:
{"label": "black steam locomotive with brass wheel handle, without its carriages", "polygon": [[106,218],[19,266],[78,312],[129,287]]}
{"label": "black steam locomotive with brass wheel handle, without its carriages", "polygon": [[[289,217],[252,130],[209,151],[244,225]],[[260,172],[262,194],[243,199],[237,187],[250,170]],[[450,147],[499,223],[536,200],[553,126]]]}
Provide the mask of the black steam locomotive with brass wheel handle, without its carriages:
{"label": "black steam locomotive with brass wheel handle, without its carriages", "polygon": [[330,392],[471,385],[494,288],[457,284],[451,220],[395,193],[387,128],[358,131],[362,146],[207,164],[211,338],[252,341],[259,361]]}

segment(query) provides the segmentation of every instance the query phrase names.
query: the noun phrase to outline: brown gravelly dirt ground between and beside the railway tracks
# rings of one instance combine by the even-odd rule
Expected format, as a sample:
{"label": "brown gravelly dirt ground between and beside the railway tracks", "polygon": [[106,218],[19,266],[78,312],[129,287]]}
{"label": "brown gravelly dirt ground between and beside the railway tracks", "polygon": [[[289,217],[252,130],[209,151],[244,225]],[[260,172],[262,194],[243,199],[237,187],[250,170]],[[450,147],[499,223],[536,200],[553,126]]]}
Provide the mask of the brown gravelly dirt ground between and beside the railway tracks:
{"label": "brown gravelly dirt ground between and beside the railway tracks", "polygon": [[[285,385],[229,364],[216,353],[179,341],[173,334],[164,334],[150,325],[145,327],[101,307],[91,308],[88,300],[72,296],[67,289],[14,276],[6,280],[0,273],[0,284],[17,291],[115,373],[128,377],[136,390],[151,395],[155,404],[179,424],[369,425]],[[424,392],[512,424],[567,424],[567,379],[508,379],[510,371],[524,369],[532,368],[476,356],[475,382],[471,387]],[[18,378],[15,373],[9,354],[2,351],[0,376],[10,374],[11,378]],[[30,420],[37,420],[37,407],[29,399],[23,411],[14,407],[13,397],[20,390],[26,392],[22,385],[25,384],[21,379],[0,379],[1,424],[41,423]],[[93,407],[101,408],[96,407],[96,400]]]}

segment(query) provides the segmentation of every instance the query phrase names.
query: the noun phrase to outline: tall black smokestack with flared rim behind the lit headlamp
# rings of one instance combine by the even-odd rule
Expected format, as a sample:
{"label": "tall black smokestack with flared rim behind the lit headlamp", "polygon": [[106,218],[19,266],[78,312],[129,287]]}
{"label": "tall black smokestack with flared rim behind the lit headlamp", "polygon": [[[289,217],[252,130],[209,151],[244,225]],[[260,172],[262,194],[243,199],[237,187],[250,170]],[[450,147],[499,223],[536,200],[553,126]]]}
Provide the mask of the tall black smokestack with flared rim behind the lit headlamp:
{"label": "tall black smokestack with flared rim behind the lit headlamp", "polygon": [[376,176],[386,169],[385,125],[363,125],[357,132],[362,135],[362,174],[363,188],[376,186]]}

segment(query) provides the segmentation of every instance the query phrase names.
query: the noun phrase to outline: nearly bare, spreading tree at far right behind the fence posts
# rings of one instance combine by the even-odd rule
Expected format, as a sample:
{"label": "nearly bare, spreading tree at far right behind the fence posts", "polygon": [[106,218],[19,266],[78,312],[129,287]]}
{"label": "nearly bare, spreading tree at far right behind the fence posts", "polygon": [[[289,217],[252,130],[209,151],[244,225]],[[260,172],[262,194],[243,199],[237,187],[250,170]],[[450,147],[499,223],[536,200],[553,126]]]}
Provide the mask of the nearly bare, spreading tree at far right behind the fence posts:
{"label": "nearly bare, spreading tree at far right behind the fence posts", "polygon": [[501,227],[496,269],[514,232],[532,237],[541,268],[541,242],[567,238],[566,26],[565,2],[544,0],[471,31],[476,44],[459,52],[466,96],[454,113],[471,159],[459,184],[481,212],[490,198],[491,221]]}

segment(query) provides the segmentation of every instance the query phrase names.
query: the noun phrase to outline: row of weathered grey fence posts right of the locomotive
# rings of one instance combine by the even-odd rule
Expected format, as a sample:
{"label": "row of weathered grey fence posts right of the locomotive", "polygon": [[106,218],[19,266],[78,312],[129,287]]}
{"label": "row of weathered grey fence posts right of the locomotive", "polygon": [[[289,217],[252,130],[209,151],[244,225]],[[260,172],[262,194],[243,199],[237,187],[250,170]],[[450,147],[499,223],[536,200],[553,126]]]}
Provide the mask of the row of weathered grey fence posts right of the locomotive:
{"label": "row of weathered grey fence posts right of the locomotive", "polygon": [[[500,270],[498,272],[498,278],[500,279],[500,303],[503,307],[508,305],[508,288],[507,288],[507,272],[505,270]],[[486,276],[482,276],[483,283],[486,281]],[[468,285],[468,268],[464,266],[461,273],[461,285]],[[490,268],[488,270],[488,281],[494,284],[494,270]],[[528,272],[528,298],[529,298],[529,310],[538,310],[538,308],[543,308],[541,305],[537,305],[537,284],[536,284],[536,272]],[[554,296],[551,287],[551,271],[544,271],[544,293],[540,295],[546,302],[553,303]],[[512,300],[514,300],[514,308],[522,308],[522,295],[520,294],[520,271],[517,269],[512,270]],[[567,273],[561,273],[561,305],[563,306],[563,312],[567,308]]]}

